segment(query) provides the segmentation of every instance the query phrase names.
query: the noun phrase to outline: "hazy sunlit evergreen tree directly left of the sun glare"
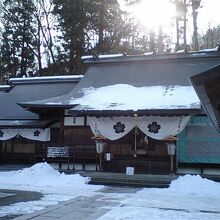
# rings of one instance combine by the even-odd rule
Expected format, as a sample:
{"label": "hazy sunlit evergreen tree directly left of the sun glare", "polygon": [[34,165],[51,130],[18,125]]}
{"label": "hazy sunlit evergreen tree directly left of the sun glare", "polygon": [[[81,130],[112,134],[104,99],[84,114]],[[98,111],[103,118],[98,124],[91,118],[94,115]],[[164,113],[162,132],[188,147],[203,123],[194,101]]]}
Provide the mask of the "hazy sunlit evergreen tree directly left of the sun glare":
{"label": "hazy sunlit evergreen tree directly left of the sun glare", "polygon": [[95,51],[99,54],[120,52],[123,50],[121,40],[129,36],[131,28],[126,22],[126,13],[117,0],[92,0],[90,3],[89,24],[97,36]]}

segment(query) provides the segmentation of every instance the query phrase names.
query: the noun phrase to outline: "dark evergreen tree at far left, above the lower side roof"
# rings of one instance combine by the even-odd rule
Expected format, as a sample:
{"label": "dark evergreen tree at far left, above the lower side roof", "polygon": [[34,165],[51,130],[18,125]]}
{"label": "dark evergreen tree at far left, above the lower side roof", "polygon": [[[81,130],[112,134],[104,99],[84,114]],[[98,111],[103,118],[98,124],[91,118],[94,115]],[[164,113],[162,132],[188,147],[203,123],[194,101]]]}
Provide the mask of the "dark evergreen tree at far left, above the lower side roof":
{"label": "dark evergreen tree at far left, above the lower side roof", "polygon": [[3,33],[1,57],[4,73],[9,76],[28,76],[35,68],[32,48],[33,2],[31,0],[5,0],[1,7]]}

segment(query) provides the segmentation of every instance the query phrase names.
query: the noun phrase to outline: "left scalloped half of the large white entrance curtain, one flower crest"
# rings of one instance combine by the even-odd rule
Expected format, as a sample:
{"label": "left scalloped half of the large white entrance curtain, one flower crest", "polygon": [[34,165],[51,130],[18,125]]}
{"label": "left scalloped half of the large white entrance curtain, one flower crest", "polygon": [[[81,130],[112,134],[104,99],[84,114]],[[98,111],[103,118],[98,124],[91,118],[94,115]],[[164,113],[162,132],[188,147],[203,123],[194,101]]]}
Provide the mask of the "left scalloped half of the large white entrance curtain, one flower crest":
{"label": "left scalloped half of the large white entrance curtain, one flower crest", "polygon": [[94,135],[101,134],[109,140],[125,136],[134,127],[133,117],[88,117]]}

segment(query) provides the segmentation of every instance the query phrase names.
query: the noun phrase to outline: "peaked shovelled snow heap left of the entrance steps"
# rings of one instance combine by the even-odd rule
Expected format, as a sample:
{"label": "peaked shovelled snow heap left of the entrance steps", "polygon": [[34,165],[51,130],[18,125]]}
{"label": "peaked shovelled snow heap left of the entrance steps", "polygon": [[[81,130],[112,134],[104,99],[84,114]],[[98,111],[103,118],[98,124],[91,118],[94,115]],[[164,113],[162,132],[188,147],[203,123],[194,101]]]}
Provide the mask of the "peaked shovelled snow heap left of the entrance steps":
{"label": "peaked shovelled snow heap left of the entrance steps", "polygon": [[14,188],[39,191],[80,192],[80,190],[96,190],[100,186],[88,185],[89,179],[79,174],[66,175],[59,173],[47,163],[38,163],[19,171],[2,172],[0,188]]}

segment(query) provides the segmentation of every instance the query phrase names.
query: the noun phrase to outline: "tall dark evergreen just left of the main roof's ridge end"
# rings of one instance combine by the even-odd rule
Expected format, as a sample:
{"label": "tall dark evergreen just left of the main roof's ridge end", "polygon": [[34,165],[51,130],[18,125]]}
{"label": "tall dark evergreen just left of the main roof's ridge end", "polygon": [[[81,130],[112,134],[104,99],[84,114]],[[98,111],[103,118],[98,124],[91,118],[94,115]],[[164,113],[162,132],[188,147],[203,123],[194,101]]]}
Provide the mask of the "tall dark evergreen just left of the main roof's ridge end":
{"label": "tall dark evergreen just left of the main roof's ridge end", "polygon": [[60,42],[65,51],[65,54],[59,54],[59,62],[67,63],[67,72],[82,72],[80,58],[86,51],[89,4],[85,0],[54,0],[53,3],[53,13],[58,18],[57,30],[62,33]]}

